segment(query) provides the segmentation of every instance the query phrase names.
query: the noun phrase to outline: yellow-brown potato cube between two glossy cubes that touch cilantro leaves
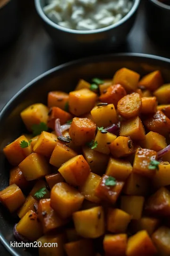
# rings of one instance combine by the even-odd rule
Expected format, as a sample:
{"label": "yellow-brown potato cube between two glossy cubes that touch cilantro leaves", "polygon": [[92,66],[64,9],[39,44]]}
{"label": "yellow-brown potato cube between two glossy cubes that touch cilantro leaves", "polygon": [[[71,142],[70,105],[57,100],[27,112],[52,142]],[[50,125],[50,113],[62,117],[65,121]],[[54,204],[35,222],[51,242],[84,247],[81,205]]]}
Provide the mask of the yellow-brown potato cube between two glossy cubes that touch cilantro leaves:
{"label": "yellow-brown potato cube between two glossy cubes that touch cilantro leaves", "polygon": [[110,158],[106,175],[114,177],[118,181],[125,181],[132,172],[132,165],[130,162]]}

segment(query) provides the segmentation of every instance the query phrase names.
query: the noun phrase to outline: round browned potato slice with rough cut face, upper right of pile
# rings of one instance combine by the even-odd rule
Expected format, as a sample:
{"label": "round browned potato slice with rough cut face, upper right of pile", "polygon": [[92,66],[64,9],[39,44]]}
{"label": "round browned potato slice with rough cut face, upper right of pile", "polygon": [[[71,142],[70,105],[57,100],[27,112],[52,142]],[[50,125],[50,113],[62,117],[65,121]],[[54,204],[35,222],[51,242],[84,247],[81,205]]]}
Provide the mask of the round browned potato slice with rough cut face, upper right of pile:
{"label": "round browned potato slice with rough cut face, upper right of pile", "polygon": [[134,118],[139,115],[142,108],[142,100],[139,93],[133,92],[124,96],[118,102],[118,112],[119,114],[126,118]]}

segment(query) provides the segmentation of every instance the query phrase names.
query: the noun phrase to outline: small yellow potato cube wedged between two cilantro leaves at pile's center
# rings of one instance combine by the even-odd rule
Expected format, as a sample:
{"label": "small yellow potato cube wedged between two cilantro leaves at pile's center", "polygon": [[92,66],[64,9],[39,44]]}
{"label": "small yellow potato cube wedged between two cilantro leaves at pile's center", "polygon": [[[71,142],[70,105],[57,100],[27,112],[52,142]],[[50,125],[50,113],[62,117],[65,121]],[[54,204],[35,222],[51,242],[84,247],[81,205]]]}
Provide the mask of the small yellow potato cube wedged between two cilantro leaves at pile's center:
{"label": "small yellow potato cube wedged between two cilantro leaves at pile's center", "polygon": [[114,141],[116,138],[116,135],[107,132],[107,133],[102,133],[101,131],[98,130],[96,137],[94,141],[97,141],[97,146],[94,148],[94,150],[109,155],[110,154],[110,144],[112,141]]}

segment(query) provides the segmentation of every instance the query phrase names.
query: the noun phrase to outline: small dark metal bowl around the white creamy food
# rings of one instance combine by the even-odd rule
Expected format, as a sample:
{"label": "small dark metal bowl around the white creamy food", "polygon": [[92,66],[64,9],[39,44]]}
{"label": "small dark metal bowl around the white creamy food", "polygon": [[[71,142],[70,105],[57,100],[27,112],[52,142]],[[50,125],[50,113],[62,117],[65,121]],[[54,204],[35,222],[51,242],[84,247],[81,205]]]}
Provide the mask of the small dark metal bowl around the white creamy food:
{"label": "small dark metal bowl around the white creamy food", "polygon": [[55,45],[68,52],[105,51],[125,41],[134,25],[140,0],[134,0],[132,9],[119,22],[95,30],[74,30],[52,22],[43,12],[45,0],[34,0],[35,8],[42,19],[44,28]]}

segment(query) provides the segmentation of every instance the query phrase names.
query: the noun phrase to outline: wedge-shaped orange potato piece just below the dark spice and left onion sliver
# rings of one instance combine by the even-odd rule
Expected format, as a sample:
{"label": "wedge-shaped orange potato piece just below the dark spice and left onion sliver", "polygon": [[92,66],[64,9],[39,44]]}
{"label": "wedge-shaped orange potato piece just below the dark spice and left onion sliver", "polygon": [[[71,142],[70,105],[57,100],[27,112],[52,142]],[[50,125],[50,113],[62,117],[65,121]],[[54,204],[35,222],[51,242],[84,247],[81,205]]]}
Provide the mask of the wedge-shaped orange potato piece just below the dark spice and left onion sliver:
{"label": "wedge-shaped orange potato piece just below the dark spice and left onion sliver", "polygon": [[62,164],[66,163],[69,159],[76,155],[77,154],[73,149],[57,141],[51,154],[50,164],[59,168]]}

